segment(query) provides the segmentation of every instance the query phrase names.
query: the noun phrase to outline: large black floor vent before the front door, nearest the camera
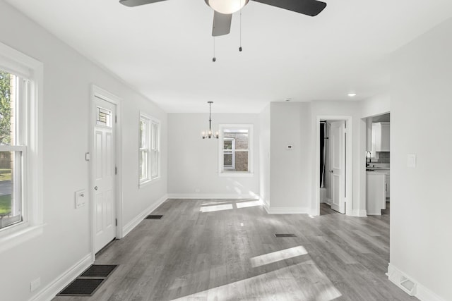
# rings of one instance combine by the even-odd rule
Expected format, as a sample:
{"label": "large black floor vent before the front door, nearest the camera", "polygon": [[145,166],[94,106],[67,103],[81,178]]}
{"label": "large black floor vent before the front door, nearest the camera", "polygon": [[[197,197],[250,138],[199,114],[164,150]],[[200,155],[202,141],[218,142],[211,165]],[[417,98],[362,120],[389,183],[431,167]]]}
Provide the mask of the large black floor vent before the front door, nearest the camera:
{"label": "large black floor vent before the front door, nearest the camera", "polygon": [[112,264],[93,264],[57,296],[92,296],[116,268]]}

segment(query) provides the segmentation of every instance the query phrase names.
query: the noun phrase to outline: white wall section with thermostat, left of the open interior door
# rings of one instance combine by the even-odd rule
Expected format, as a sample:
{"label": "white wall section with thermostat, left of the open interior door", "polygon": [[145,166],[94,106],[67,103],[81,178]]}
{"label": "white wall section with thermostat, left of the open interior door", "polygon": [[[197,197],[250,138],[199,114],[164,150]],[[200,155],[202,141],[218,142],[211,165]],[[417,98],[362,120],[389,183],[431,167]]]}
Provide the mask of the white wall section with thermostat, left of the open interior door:
{"label": "white wall section with thermostat, left of the open interior door", "polygon": [[270,212],[310,210],[310,112],[307,102],[270,104]]}

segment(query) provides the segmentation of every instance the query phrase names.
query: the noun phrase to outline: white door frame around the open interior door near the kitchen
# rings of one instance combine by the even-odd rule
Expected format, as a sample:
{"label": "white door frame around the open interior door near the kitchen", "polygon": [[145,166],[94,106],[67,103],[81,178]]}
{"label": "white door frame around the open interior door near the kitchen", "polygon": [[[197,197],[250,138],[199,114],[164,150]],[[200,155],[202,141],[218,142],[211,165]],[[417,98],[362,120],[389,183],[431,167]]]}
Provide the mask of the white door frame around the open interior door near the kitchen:
{"label": "white door frame around the open interior door near the kitchen", "polygon": [[320,215],[320,121],[345,121],[347,140],[345,141],[345,190],[347,196],[345,197],[345,215],[352,215],[353,212],[353,191],[352,191],[352,179],[353,179],[353,162],[352,162],[352,116],[332,116],[332,115],[318,115],[316,116],[316,180],[314,180],[315,202],[313,207],[313,214],[315,216]]}

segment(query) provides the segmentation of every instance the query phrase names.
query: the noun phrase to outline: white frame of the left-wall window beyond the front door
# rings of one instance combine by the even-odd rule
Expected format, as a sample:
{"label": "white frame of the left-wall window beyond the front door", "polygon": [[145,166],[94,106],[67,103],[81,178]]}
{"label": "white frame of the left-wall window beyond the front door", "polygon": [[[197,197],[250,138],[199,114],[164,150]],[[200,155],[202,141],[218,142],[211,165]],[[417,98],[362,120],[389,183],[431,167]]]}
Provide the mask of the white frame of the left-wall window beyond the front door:
{"label": "white frame of the left-wall window beyond the front door", "polygon": [[[145,123],[145,147],[141,147],[141,123]],[[160,179],[160,121],[140,112],[138,123],[138,187],[144,187]],[[141,154],[146,154],[146,176],[141,178]],[[153,164],[155,163],[155,164]]]}

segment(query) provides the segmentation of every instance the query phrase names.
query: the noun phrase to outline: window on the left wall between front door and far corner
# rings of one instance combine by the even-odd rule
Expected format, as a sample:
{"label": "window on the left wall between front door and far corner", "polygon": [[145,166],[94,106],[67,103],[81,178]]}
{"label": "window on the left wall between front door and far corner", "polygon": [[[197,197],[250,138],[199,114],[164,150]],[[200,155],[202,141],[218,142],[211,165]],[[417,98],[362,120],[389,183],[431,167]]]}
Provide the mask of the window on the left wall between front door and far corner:
{"label": "window on the left wall between front door and far corner", "polygon": [[160,176],[160,121],[141,114],[139,140],[139,178],[144,185]]}

